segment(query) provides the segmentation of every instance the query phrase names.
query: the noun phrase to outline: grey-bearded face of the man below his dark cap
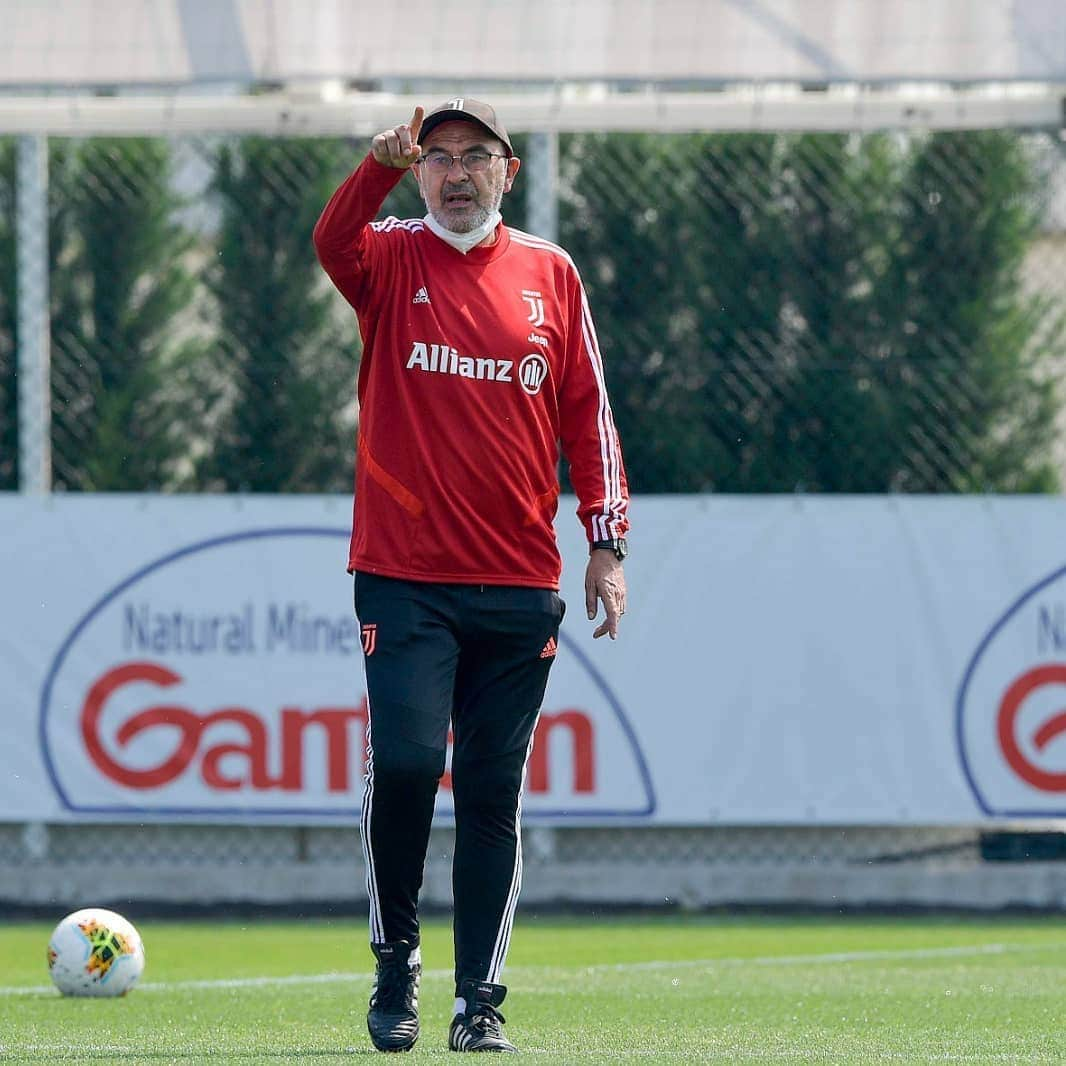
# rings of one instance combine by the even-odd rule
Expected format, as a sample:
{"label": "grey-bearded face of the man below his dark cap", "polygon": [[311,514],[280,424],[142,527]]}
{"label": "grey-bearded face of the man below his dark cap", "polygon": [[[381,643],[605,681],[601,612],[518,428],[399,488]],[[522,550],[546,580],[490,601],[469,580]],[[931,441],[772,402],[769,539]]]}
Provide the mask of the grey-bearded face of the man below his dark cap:
{"label": "grey-bearded face of the man below his dark cap", "polygon": [[[471,148],[504,154],[503,145],[486,130],[473,123],[441,123],[421,142],[422,155],[431,150],[459,156]],[[503,194],[511,191],[515,175],[521,164],[517,159],[494,158],[488,169],[467,174],[457,159],[442,174],[427,166],[415,166],[418,187],[425,206],[437,222],[454,233],[468,233],[477,229],[499,210]]]}

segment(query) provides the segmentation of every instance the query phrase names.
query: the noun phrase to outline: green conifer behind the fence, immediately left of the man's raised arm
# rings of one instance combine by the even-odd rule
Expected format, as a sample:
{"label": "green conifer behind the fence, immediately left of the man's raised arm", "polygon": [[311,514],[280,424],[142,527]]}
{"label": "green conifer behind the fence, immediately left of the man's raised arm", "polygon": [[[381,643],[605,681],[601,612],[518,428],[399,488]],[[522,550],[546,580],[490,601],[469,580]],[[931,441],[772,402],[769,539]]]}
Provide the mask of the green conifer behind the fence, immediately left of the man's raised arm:
{"label": "green conifer behind the fence, immediately left of the man's raised arm", "polygon": [[243,491],[351,485],[357,346],[311,244],[351,164],[340,141],[243,138],[215,158],[219,338],[205,383],[216,419],[203,484]]}

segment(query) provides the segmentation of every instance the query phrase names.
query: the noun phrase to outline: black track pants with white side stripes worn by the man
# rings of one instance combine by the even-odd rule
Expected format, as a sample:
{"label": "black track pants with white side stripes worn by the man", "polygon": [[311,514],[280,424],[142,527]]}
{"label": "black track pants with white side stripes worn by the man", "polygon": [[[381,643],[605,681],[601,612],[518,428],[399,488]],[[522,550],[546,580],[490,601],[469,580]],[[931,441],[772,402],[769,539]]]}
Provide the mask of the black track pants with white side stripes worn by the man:
{"label": "black track pants with white side stripes worn by the man", "polygon": [[419,941],[437,786],[453,733],[455,976],[499,983],[521,884],[519,796],[564,605],[543,588],[355,576],[370,752],[370,939]]}

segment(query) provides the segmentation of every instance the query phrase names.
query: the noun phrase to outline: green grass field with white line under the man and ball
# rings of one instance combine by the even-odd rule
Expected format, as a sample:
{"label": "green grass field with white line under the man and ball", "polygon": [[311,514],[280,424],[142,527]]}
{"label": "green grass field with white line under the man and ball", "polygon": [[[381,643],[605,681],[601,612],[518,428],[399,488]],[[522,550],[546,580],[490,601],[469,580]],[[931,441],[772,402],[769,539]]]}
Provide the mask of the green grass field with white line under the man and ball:
{"label": "green grass field with white line under the man and ball", "polygon": [[[375,1056],[358,921],[138,922],[120,1000],[48,984],[51,926],[0,927],[0,1062],[328,1063]],[[424,930],[422,1038],[451,1059],[450,930]],[[519,915],[507,1033],[567,1063],[1064,1063],[1066,923]]]}

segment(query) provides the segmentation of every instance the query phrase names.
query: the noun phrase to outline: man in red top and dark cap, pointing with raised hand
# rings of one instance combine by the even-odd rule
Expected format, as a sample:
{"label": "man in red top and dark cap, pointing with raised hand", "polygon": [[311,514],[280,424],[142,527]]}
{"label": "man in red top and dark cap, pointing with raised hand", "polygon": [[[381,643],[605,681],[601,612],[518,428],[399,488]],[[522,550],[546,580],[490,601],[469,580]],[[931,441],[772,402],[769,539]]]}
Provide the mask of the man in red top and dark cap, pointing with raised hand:
{"label": "man in red top and dark cap, pointing with raised hand", "polygon": [[[625,613],[628,490],[596,334],[569,257],[504,226],[518,173],[492,108],[457,99],[373,139],[314,228],[364,340],[349,569],[369,704],[362,842],[383,1051],[419,1035],[418,893],[452,739],[454,1051],[514,1051],[500,984],[520,805],[564,604],[559,448],[591,545],[595,637]],[[411,169],[423,220],[372,222]]]}

